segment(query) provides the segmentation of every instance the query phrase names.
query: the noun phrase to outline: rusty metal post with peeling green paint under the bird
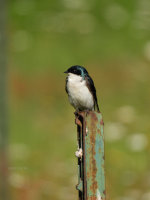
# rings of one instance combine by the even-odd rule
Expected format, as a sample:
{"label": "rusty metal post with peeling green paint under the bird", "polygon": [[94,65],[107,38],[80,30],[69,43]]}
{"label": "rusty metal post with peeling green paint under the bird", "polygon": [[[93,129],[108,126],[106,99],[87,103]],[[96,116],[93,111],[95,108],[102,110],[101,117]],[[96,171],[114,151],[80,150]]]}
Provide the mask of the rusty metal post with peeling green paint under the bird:
{"label": "rusty metal post with peeling green paint under the bird", "polygon": [[101,113],[94,111],[76,114],[79,148],[79,200],[106,200],[104,173],[104,124]]}

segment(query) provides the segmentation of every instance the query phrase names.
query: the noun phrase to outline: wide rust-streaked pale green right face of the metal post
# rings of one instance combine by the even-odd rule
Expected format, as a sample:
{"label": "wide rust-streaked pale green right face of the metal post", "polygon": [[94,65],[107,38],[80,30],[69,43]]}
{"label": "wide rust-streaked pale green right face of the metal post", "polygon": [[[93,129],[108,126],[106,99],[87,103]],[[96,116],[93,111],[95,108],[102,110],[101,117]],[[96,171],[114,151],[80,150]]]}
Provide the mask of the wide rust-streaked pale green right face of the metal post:
{"label": "wide rust-streaked pale green right face of the metal post", "polygon": [[87,179],[87,199],[101,195],[105,199],[105,174],[104,174],[104,137],[102,115],[94,112],[85,118],[85,165]]}

